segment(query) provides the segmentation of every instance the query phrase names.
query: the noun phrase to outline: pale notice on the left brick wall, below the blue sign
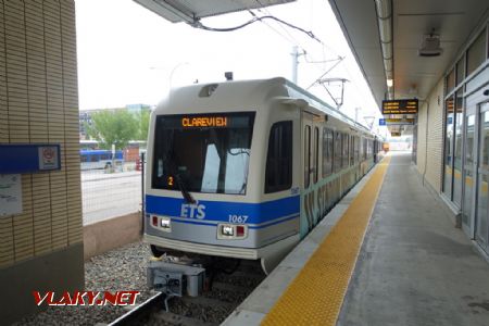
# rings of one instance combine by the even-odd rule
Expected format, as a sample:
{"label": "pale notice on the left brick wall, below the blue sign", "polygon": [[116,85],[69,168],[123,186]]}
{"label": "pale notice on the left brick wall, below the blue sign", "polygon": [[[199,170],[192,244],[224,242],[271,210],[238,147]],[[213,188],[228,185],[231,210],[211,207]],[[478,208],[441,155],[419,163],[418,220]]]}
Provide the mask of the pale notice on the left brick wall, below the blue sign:
{"label": "pale notice on the left brick wall, below the blue sign", "polygon": [[22,177],[0,174],[0,217],[22,213]]}

